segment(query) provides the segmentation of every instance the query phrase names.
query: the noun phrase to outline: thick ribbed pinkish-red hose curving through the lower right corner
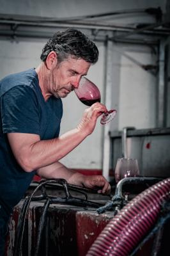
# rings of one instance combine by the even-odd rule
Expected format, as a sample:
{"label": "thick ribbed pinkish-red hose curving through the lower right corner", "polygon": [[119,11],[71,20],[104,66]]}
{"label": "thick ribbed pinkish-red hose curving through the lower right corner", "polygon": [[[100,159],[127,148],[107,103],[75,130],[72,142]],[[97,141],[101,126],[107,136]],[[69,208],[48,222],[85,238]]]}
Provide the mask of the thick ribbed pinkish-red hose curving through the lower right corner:
{"label": "thick ribbed pinkish-red hose curving through the lower right corner", "polygon": [[168,178],[135,196],[102,230],[86,256],[129,255],[157,220],[169,191]]}

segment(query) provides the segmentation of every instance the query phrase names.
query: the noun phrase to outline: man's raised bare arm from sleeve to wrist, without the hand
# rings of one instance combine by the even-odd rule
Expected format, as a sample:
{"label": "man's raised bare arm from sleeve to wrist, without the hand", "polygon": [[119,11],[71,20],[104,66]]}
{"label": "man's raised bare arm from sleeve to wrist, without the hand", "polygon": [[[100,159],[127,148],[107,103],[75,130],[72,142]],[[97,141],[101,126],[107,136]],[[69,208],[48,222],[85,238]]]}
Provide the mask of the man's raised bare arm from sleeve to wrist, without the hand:
{"label": "man's raised bare arm from sleeve to wrist, without the hand", "polygon": [[22,133],[10,133],[8,140],[20,166],[26,172],[31,172],[43,166],[49,166],[66,156],[86,136],[76,128],[52,140],[40,140],[36,134]]}

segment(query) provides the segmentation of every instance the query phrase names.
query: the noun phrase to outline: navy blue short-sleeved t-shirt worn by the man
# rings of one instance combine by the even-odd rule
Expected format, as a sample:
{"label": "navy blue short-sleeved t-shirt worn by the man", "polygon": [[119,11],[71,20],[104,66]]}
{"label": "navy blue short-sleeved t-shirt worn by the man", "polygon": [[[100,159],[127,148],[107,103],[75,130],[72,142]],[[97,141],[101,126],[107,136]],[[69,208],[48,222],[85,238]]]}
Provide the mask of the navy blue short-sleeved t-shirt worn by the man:
{"label": "navy blue short-sleeved t-shirt worn by the man", "polygon": [[22,170],[8,143],[8,132],[59,136],[63,115],[61,99],[45,102],[35,69],[12,74],[0,82],[0,205],[11,212],[28,188],[36,170]]}

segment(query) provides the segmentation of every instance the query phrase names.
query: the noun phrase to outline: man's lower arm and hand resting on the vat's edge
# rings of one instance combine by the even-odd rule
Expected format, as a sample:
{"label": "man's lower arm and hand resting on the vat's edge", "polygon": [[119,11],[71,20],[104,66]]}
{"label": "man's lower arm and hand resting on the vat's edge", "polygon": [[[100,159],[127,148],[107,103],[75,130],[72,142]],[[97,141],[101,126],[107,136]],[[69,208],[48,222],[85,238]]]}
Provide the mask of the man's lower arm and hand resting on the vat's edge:
{"label": "man's lower arm and hand resting on the vat's edge", "polygon": [[89,189],[98,188],[98,193],[107,194],[111,190],[109,182],[102,175],[82,175],[56,162],[36,171],[43,179],[65,179],[68,183]]}

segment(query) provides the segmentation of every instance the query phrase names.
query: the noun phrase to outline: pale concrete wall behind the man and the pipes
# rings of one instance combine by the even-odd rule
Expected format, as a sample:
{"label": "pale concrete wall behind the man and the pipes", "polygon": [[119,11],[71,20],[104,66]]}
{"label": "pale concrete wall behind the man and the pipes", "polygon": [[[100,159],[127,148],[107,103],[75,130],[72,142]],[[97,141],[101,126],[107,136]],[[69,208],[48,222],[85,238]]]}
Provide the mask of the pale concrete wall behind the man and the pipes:
{"label": "pale concrete wall behind the man and the pipes", "polygon": [[[114,2],[114,3],[113,3]],[[150,1],[12,1],[0,0],[0,16],[26,15],[32,17],[74,17],[93,13],[112,12],[135,8],[158,7],[165,11],[166,0]],[[122,24],[136,21],[150,22],[153,17],[136,15],[135,17],[112,17],[110,22]],[[40,53],[45,39],[15,38],[0,39],[0,78],[6,74],[36,67],[40,62]],[[97,42],[100,58],[89,70],[88,78],[98,85],[105,101],[105,44]],[[112,107],[118,110],[111,130],[120,130],[125,126],[137,129],[151,128],[156,125],[156,77],[144,70],[141,65],[155,65],[157,56],[150,47],[141,45],[114,44],[112,49]],[[74,128],[86,106],[83,106],[72,93],[63,100],[64,115],[61,134]],[[62,162],[70,168],[102,169],[104,126],[98,120],[95,132],[68,154]]]}

